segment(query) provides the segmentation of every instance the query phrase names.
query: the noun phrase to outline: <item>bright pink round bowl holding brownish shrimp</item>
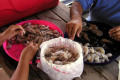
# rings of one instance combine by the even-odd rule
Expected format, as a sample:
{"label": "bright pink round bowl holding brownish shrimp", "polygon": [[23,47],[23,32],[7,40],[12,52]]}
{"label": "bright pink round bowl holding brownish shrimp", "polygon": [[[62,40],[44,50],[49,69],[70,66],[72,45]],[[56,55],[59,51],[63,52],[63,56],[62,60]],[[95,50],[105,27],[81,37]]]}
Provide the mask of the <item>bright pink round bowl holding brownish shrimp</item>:
{"label": "bright pink round bowl holding brownish shrimp", "polygon": [[[31,23],[31,24],[40,24],[40,25],[48,25],[49,29],[53,29],[53,30],[57,30],[59,33],[63,35],[63,32],[60,30],[59,27],[57,27],[55,24],[48,22],[48,21],[44,21],[44,20],[28,20],[28,21],[24,21],[24,22],[20,22],[18,23],[18,25],[23,25],[25,23]],[[5,41],[3,43],[3,48],[5,50],[5,52],[14,60],[19,61],[20,59],[20,55],[22,50],[25,48],[25,46],[21,43],[21,44],[12,44],[12,47],[10,49],[6,49],[8,43],[7,41]],[[36,61],[36,63],[39,61]],[[31,63],[31,62],[30,62]]]}

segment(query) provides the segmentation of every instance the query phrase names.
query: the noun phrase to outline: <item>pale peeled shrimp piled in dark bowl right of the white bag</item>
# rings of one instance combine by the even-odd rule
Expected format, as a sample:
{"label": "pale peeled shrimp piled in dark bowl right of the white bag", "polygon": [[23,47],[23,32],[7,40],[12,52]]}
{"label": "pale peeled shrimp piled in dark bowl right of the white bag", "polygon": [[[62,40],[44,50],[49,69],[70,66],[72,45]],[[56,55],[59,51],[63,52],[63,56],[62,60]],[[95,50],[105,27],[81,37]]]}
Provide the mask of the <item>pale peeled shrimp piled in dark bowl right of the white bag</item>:
{"label": "pale peeled shrimp piled in dark bowl right of the white bag", "polygon": [[90,47],[89,43],[83,46],[84,61],[91,63],[104,63],[109,61],[109,57],[112,57],[111,53],[105,53],[102,47]]}

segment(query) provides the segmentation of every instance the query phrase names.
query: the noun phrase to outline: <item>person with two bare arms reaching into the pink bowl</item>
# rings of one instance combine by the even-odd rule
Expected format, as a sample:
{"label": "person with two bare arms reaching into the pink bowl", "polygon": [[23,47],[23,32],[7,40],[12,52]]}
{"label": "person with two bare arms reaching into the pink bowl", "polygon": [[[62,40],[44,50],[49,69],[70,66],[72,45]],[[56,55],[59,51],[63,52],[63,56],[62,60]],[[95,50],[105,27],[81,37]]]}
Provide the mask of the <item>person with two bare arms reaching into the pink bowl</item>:
{"label": "person with two bare arms reaching into the pink bowl", "polygon": [[[0,46],[7,39],[10,39],[17,34],[23,35],[24,32],[24,29],[20,25],[10,26],[7,30],[0,34]],[[37,50],[38,45],[33,42],[30,42],[29,45],[23,49],[20,61],[11,80],[28,80],[29,62],[32,60]]]}

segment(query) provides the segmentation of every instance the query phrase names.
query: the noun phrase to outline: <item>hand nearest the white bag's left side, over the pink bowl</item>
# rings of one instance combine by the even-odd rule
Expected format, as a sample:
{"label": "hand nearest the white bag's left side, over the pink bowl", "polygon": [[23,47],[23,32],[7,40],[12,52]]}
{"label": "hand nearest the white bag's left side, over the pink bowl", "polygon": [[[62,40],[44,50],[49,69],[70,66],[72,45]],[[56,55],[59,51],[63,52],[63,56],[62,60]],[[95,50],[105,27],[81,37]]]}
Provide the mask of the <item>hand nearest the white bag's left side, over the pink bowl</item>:
{"label": "hand nearest the white bag's left side, over the pink bowl", "polygon": [[29,45],[23,49],[20,59],[28,62],[31,61],[37,50],[38,44],[30,42]]}

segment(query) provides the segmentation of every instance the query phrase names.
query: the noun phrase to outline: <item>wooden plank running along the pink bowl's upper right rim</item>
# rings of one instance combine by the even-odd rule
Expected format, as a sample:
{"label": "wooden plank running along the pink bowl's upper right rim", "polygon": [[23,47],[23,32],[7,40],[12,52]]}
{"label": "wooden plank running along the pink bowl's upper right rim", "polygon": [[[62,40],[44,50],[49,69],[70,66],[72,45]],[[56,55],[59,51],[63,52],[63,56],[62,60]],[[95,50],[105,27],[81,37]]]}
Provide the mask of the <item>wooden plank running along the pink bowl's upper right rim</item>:
{"label": "wooden plank running along the pink bowl's upper right rim", "polygon": [[56,24],[63,31],[63,33],[65,32],[66,23],[62,19],[60,19],[57,15],[55,15],[52,11],[47,10],[47,11],[40,13],[36,16],[40,20],[47,20],[49,22]]}

